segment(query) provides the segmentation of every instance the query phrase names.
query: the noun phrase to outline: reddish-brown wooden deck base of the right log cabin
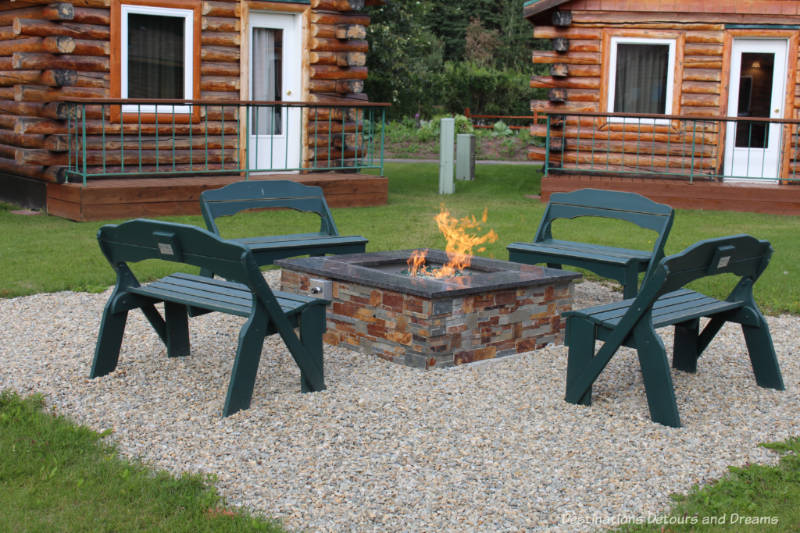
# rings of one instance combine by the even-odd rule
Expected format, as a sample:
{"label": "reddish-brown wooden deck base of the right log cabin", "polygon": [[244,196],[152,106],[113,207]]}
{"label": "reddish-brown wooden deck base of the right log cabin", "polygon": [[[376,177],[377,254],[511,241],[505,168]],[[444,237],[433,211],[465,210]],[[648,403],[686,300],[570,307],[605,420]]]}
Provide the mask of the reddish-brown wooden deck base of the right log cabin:
{"label": "reddish-brown wooden deck base of the right log cabin", "polygon": [[722,183],[675,179],[637,179],[558,174],[542,178],[542,200],[554,192],[577,189],[609,189],[636,192],[654,202],[678,209],[749,211],[773,215],[800,215],[800,183]]}

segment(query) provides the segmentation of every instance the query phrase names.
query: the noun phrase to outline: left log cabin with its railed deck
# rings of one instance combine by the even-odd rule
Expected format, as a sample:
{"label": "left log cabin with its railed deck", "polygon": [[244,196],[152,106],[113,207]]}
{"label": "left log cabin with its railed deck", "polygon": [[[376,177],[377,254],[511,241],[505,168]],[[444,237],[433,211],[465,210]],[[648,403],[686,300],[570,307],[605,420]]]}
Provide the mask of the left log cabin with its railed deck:
{"label": "left log cabin with its railed deck", "polygon": [[379,2],[0,0],[0,200],[198,213],[202,190],[263,174],[385,203],[358,172],[382,169],[385,107],[363,92]]}

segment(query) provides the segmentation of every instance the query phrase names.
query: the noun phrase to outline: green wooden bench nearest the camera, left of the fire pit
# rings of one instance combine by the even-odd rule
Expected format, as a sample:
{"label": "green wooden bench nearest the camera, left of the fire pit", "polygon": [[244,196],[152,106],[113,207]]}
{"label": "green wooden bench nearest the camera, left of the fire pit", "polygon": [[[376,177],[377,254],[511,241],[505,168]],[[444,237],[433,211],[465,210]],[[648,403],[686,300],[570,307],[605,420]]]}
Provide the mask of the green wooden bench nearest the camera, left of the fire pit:
{"label": "green wooden bench nearest the camera, left of the fire pit", "polygon": [[[304,392],[325,389],[322,334],[326,300],[270,290],[244,245],[204,229],[155,220],[131,220],[100,228],[100,249],[117,273],[106,303],[90,377],[112,372],[119,360],[128,311],[141,309],[169,357],[189,355],[188,309],[247,318],[239,333],[223,415],[250,406],[266,335],[278,333],[300,367]],[[219,273],[224,280],[176,273],[140,285],[127,263],[165,259]],[[156,309],[164,302],[164,317]],[[299,327],[300,336],[294,328]]]}

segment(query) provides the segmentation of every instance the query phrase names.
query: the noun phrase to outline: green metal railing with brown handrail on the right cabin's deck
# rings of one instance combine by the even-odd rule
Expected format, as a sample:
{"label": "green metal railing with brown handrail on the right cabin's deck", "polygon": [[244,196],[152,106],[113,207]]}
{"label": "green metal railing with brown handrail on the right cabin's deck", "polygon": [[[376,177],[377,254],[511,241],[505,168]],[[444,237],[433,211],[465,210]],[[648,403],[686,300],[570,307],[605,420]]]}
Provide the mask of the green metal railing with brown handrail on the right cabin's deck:
{"label": "green metal railing with brown handrail on the right cabin's deck", "polygon": [[554,112],[541,120],[546,174],[800,180],[798,120]]}

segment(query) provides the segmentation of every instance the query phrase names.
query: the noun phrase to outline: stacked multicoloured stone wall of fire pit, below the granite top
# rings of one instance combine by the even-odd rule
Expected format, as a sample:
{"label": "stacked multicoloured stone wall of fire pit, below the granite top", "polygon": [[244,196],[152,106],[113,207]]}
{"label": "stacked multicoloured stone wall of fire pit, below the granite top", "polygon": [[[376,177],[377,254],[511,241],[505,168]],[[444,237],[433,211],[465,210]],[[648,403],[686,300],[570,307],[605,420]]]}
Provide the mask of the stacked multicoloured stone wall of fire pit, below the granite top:
{"label": "stacked multicoloured stone wall of fire pit, below the granite top", "polygon": [[[284,266],[281,287],[308,294],[311,279],[329,278]],[[324,340],[418,368],[527,352],[563,342],[574,279],[439,299],[333,279]]]}

